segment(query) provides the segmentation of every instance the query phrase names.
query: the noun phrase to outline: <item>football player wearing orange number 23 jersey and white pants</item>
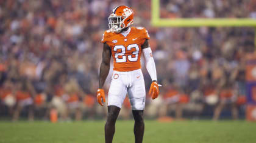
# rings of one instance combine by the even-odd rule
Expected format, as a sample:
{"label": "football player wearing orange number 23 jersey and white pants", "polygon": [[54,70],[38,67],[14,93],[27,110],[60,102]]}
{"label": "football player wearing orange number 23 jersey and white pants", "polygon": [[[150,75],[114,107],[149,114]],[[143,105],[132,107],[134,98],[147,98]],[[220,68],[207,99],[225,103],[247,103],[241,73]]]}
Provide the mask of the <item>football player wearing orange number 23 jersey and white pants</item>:
{"label": "football player wearing orange number 23 jersey and white pants", "polygon": [[149,34],[145,28],[130,27],[133,24],[133,11],[121,5],[113,9],[108,17],[109,30],[105,31],[101,42],[103,45],[102,63],[99,73],[99,88],[97,98],[99,104],[105,102],[103,85],[110,68],[110,58],[113,57],[113,75],[108,91],[108,114],[105,124],[105,142],[112,142],[115,133],[115,122],[126,94],[129,95],[132,114],[135,120],[135,142],[143,141],[146,91],[143,74],[141,72],[141,53],[143,53],[146,68],[152,79],[149,94],[152,99],[159,94],[157,73],[152,51],[149,47]]}

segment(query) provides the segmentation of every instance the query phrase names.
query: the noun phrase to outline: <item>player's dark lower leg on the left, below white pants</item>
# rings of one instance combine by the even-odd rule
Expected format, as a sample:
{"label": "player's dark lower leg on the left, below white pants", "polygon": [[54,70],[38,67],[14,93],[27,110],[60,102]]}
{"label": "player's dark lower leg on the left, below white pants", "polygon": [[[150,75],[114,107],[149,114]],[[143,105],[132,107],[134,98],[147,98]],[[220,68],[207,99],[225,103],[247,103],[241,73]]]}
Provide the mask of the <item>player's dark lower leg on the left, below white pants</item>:
{"label": "player's dark lower leg on the left, below white pants", "polygon": [[105,142],[112,143],[113,136],[115,134],[116,119],[121,108],[114,105],[108,106],[107,122],[105,124]]}

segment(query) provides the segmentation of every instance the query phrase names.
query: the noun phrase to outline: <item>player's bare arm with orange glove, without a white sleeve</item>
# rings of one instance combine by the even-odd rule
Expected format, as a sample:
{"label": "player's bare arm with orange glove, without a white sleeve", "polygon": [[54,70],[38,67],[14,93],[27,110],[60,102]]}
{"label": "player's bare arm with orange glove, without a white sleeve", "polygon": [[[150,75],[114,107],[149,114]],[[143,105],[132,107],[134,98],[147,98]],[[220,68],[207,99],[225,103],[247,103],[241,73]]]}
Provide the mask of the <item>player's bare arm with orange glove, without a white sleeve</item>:
{"label": "player's bare arm with orange glove, without a white sleeve", "polygon": [[108,47],[108,44],[104,44],[103,52],[102,52],[102,62],[99,70],[99,88],[97,91],[97,100],[99,104],[101,104],[102,106],[103,106],[102,99],[103,99],[103,102],[105,102],[105,93],[103,90],[103,85],[105,83],[105,80],[107,79],[107,75],[109,72],[110,59],[111,59],[110,47]]}

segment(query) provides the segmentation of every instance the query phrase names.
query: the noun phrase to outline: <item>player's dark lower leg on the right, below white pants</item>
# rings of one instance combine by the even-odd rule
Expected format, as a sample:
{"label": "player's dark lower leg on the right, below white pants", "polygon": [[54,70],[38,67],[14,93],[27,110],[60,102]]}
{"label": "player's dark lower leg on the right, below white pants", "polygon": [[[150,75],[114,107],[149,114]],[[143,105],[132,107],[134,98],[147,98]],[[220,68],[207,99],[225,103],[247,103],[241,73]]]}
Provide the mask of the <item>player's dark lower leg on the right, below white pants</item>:
{"label": "player's dark lower leg on the right, below white pants", "polygon": [[144,135],[143,110],[132,110],[132,115],[135,121],[133,128],[135,143],[142,143]]}

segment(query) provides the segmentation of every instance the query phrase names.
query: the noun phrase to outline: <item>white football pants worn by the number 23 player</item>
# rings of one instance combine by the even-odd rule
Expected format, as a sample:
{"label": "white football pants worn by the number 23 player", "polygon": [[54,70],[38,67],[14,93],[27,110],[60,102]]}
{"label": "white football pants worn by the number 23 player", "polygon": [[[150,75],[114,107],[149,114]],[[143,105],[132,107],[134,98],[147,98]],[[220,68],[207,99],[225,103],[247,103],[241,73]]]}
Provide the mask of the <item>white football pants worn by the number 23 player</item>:
{"label": "white football pants worn by the number 23 player", "polygon": [[108,106],[122,107],[128,93],[132,110],[144,110],[146,91],[141,69],[133,71],[113,71],[108,91]]}

